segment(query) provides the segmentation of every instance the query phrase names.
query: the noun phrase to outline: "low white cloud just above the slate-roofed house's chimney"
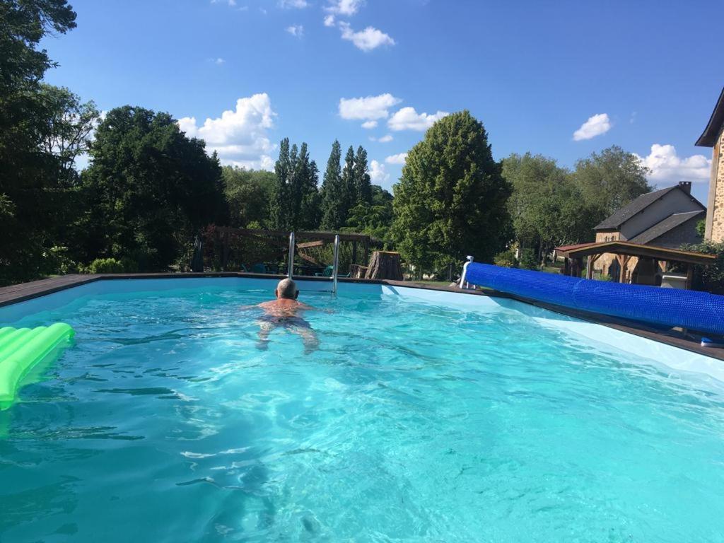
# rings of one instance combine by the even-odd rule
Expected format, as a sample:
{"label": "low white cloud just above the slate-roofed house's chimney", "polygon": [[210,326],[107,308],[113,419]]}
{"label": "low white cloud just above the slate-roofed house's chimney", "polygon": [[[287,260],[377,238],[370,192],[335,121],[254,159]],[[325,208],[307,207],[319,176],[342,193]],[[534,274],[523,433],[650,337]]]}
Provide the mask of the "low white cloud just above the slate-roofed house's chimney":
{"label": "low white cloud just above the slate-roofed house's chimney", "polygon": [[706,182],[710,178],[711,159],[704,155],[681,157],[671,145],[654,143],[648,156],[636,155],[651,172],[648,175],[654,184],[678,181]]}

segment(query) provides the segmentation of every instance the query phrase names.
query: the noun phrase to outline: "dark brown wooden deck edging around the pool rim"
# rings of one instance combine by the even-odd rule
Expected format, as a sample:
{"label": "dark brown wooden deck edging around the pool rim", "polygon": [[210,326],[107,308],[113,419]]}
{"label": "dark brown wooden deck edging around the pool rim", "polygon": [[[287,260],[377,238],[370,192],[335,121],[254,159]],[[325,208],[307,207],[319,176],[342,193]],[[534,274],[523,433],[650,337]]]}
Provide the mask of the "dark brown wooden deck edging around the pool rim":
{"label": "dark brown wooden deck edging around the pool rim", "polygon": [[[285,275],[271,274],[249,274],[237,273],[232,271],[221,272],[204,272],[204,273],[153,273],[153,274],[96,274],[96,275],[64,275],[62,277],[53,277],[51,279],[41,279],[20,285],[11,285],[9,287],[0,287],[0,307],[9,306],[12,303],[39,298],[51,292],[58,292],[80,285],[86,285],[90,282],[103,280],[124,280],[124,279],[188,279],[192,277],[246,277],[253,279],[283,279]],[[329,281],[329,277],[296,277],[304,281]],[[617,319],[598,313],[588,313],[586,311],[576,311],[574,309],[555,306],[550,303],[542,303],[537,300],[529,300],[519,296],[510,295],[507,292],[498,292],[495,290],[460,290],[458,287],[442,287],[433,285],[423,285],[413,281],[390,281],[380,279],[350,279],[340,277],[340,283],[368,283],[372,285],[390,285],[394,287],[406,287],[423,290],[437,290],[441,292],[463,293],[471,296],[490,296],[494,298],[508,298],[510,300],[518,300],[523,303],[529,303],[531,306],[547,309],[554,313],[566,316],[572,316],[576,319],[589,321],[594,324],[620,330],[647,340],[665,343],[693,353],[698,353],[710,358],[717,358],[724,361],[724,349],[720,348],[702,348],[701,334],[680,332],[675,329],[662,331],[654,327],[649,327],[638,322]]]}

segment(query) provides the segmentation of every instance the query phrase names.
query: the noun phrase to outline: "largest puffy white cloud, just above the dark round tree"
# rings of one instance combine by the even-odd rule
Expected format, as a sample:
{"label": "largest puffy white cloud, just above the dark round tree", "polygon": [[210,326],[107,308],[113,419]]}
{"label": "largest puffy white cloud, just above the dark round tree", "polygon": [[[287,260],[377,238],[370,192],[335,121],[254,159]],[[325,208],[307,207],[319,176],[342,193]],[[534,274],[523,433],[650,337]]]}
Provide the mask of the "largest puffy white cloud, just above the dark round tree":
{"label": "largest puffy white cloud, just above the dark round tree", "polygon": [[219,153],[223,164],[244,168],[271,169],[274,145],[268,130],[274,127],[274,111],[266,93],[239,98],[236,109],[224,111],[221,117],[196,124],[195,117],[183,117],[178,125],[190,138],[206,141],[206,150]]}

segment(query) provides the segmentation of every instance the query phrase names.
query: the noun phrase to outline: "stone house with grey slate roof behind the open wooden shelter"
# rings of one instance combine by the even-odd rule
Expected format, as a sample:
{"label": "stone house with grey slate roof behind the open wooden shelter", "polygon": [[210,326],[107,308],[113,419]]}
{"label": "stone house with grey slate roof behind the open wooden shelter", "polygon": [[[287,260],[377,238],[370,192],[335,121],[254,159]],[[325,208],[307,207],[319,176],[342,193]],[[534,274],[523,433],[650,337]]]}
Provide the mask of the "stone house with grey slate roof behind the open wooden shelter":
{"label": "stone house with grey slate roof behind the open wooden shelter", "polygon": [[[696,223],[704,219],[707,209],[691,195],[691,182],[642,194],[628,206],[594,227],[596,243],[623,241],[636,245],[678,249],[684,243],[701,243]],[[618,281],[621,260],[604,253],[593,264],[594,276],[608,276]],[[623,270],[625,282],[660,285],[665,262],[650,258],[628,258]]]}

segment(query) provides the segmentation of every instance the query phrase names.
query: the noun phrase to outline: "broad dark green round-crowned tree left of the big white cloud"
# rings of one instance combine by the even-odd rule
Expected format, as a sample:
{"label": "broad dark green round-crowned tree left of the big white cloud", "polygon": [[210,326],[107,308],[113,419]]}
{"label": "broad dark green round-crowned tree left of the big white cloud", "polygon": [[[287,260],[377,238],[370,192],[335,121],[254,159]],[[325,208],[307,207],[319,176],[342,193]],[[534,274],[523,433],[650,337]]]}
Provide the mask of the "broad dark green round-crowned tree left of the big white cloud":
{"label": "broad dark green round-crowned tree left of the big white cloud", "polygon": [[82,182],[85,259],[125,258],[167,269],[209,223],[227,219],[219,159],[169,114],[112,109],[96,130]]}

